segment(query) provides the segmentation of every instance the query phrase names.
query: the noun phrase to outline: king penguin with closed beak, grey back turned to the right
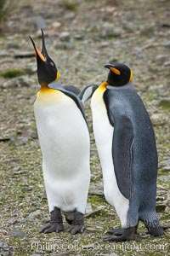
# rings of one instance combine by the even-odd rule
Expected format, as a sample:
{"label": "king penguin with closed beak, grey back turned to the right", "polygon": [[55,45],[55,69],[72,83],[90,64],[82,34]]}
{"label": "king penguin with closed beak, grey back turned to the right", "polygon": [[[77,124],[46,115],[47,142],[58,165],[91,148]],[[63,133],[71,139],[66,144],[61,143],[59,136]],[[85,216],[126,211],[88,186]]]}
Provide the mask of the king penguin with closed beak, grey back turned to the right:
{"label": "king penguin with closed beak, grey back turned to the right", "polygon": [[157,152],[150,117],[133,89],[133,72],[107,64],[107,81],[91,100],[94,138],[104,178],[105,199],[116,208],[122,229],[104,241],[135,238],[139,220],[152,236],[162,236],[156,213]]}

